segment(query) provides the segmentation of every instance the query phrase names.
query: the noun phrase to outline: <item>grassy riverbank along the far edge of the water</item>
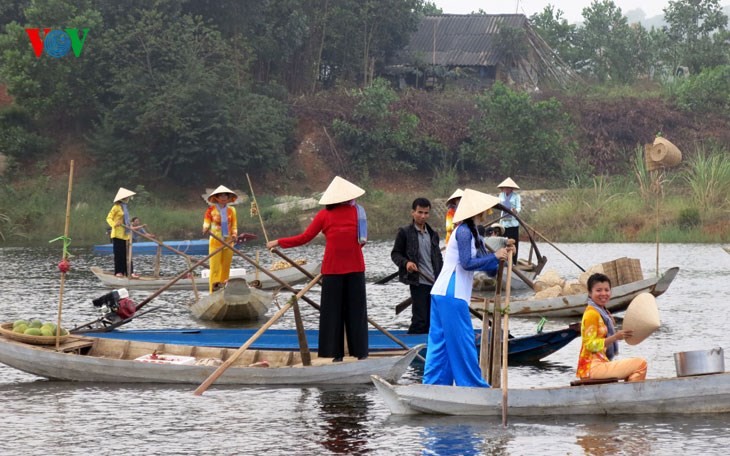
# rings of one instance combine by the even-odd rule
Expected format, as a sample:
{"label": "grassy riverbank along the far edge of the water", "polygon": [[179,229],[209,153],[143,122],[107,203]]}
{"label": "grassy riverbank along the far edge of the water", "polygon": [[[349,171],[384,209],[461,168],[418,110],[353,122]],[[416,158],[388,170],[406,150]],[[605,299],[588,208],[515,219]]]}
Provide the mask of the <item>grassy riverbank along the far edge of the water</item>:
{"label": "grassy riverbank along the far edge of the water", "polygon": [[[67,196],[67,177],[38,177],[18,182],[2,193],[0,233],[3,246],[43,245],[63,234]],[[521,181],[527,187],[529,181]],[[495,193],[492,185],[459,183],[460,186]],[[648,182],[630,177],[594,178],[583,186],[568,189],[522,190],[524,220],[553,242],[655,242],[727,243],[730,242],[730,210],[726,194],[703,200],[685,179],[663,183],[657,194]],[[150,192],[136,188],[130,204],[133,216],[141,218],[148,230],[160,239],[201,237],[205,203],[200,198],[182,198],[176,190]],[[18,197],[17,195],[23,195]],[[443,234],[444,197],[432,195],[427,187],[390,193],[368,188],[362,203],[368,212],[369,235],[373,240],[392,239],[399,226],[410,222],[410,205],[415,197],[426,196],[433,202],[430,223]],[[317,207],[293,209],[282,213],[275,207],[295,197],[256,195],[266,235],[269,238],[300,232]],[[113,192],[89,179],[74,184],[71,197],[70,237],[76,246],[108,242],[106,214]],[[317,194],[298,198],[318,198]],[[243,198],[245,199],[245,198]],[[311,205],[310,205],[311,206]],[[258,216],[252,216],[250,203],[238,208],[240,232],[259,236],[265,242]]]}

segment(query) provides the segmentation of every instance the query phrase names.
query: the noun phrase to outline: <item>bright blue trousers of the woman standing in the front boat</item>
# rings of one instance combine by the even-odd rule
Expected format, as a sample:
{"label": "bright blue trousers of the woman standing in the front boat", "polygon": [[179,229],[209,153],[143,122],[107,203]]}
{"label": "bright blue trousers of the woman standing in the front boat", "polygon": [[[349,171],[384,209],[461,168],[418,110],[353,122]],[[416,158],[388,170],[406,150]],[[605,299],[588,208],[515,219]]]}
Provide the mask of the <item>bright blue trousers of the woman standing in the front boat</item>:
{"label": "bright blue trousers of the woman standing in the front boat", "polygon": [[446,296],[431,295],[423,383],[489,388],[479,368],[469,304],[454,297],[455,277],[452,274]]}

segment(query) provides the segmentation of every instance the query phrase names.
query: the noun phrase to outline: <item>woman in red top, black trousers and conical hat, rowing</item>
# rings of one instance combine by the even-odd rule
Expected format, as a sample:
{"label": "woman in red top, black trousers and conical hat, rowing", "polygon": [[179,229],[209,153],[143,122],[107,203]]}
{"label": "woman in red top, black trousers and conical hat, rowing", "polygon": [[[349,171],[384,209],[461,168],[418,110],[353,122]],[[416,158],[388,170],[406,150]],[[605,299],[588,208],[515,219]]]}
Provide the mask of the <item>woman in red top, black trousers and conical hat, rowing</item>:
{"label": "woman in red top, black trousers and conical hat, rowing", "polygon": [[303,233],[269,241],[268,248],[288,249],[308,243],[322,232],[325,238],[322,259],[322,299],[319,314],[319,357],[342,361],[344,337],[352,356],[368,357],[368,314],[365,295],[365,259],[362,247],[367,241],[365,209],[355,198],[365,190],[335,176]]}

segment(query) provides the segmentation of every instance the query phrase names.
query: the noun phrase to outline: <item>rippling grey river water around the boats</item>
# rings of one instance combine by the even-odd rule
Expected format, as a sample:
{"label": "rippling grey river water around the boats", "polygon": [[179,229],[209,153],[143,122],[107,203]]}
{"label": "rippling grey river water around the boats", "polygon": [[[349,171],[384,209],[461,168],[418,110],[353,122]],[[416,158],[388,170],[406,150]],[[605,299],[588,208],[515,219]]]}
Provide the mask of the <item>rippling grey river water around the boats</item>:
{"label": "rippling grey river water around the boats", "polygon": [[[390,242],[365,248],[368,281],[390,272]],[[627,256],[642,261],[644,276],[656,272],[653,244],[556,244],[583,268]],[[564,278],[580,270],[547,244],[547,269]],[[245,251],[254,255],[257,248]],[[71,247],[72,271],[63,293],[65,327],[97,317],[91,299],[107,290],[90,266],[111,267],[111,257]],[[287,253],[320,258],[321,246]],[[260,252],[264,265],[278,258]],[[55,321],[59,307],[58,248],[0,249],[0,320],[39,317]],[[234,266],[244,266],[234,259]],[[139,257],[135,269],[151,272],[151,258]],[[185,268],[179,258],[165,257],[163,272]],[[674,376],[673,353],[720,346],[730,350],[730,255],[719,245],[662,245],[659,269],[681,268],[669,290],[658,298],[662,328],[637,346],[621,344],[620,356],[640,355],[649,362],[649,377]],[[311,297],[318,300],[317,289]],[[140,302],[147,296],[132,292]],[[410,312],[394,315],[393,307],[408,296],[404,285],[368,286],[369,315],[387,328],[406,328]],[[156,310],[129,328],[200,327],[186,309],[192,292],[163,293],[147,308]],[[279,298],[283,304],[286,296]],[[304,306],[306,307],[306,306]],[[315,311],[303,307],[305,325],[316,328]],[[276,308],[271,310],[275,312]],[[551,320],[546,330],[567,321]],[[258,324],[261,324],[259,322]],[[534,332],[535,320],[510,319],[515,335]],[[255,326],[256,324],[254,324]],[[210,325],[208,325],[210,326]],[[286,316],[274,327],[293,328]],[[580,344],[571,342],[534,366],[509,368],[513,387],[565,385],[574,375]],[[420,380],[411,368],[401,382]],[[88,454],[727,454],[730,416],[612,416],[510,419],[391,416],[374,387],[220,387],[202,397],[194,386],[102,385],[50,382],[0,365],[0,454],[29,452]]]}

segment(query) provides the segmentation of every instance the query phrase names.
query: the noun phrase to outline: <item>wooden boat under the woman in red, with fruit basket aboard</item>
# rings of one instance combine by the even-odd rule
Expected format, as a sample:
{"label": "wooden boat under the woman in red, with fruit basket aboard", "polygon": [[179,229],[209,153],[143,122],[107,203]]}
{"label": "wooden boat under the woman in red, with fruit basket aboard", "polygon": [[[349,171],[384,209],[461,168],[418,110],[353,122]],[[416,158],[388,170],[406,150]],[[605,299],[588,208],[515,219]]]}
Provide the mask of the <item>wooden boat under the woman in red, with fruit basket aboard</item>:
{"label": "wooden boat under the woman in red, with fruit basket aboard", "polygon": [[[317,358],[303,366],[299,352],[245,351],[216,381],[221,385],[369,383],[370,375],[396,381],[420,347],[400,356]],[[69,336],[55,345],[33,345],[0,336],[0,362],[53,380],[109,383],[200,384],[236,350]]]}

